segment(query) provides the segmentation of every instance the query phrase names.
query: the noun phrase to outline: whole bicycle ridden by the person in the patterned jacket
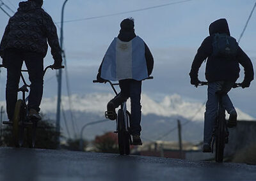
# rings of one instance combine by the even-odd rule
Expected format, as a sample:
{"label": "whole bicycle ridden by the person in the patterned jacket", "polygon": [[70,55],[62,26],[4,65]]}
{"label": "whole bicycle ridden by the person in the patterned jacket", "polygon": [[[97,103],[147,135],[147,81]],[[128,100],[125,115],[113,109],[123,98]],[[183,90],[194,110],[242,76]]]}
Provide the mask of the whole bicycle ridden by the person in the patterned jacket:
{"label": "whole bicycle ridden by the person in the patterned jacket", "polygon": [[[0,65],[0,67],[4,67],[3,65]],[[52,66],[47,66],[44,69],[45,75],[47,69],[53,69]],[[61,66],[61,68],[64,68],[64,66]],[[25,128],[28,128],[28,133],[31,133],[31,142],[29,143],[30,147],[35,148],[36,143],[36,127],[38,123],[38,119],[31,119],[28,117],[28,97],[26,98],[26,92],[28,91],[28,83],[26,83],[26,80],[24,76],[22,75],[22,72],[28,72],[28,70],[21,70],[20,77],[22,79],[22,82],[24,85],[18,89],[18,92],[22,92],[22,99],[19,99],[15,104],[15,110],[13,114],[13,120],[10,121],[3,121],[3,124],[10,125],[13,127],[13,142],[15,147],[22,147],[24,144],[24,133]]]}

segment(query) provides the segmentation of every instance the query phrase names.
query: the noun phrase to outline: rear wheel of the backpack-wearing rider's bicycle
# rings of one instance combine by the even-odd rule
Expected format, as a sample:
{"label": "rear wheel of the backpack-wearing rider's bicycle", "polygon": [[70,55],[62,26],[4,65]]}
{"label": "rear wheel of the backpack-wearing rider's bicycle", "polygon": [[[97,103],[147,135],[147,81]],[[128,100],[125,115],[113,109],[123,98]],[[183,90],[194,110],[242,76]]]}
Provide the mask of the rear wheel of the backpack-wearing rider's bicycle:
{"label": "rear wheel of the backpack-wearing rider's bicycle", "polygon": [[225,113],[220,112],[217,120],[217,131],[216,131],[216,157],[215,160],[218,163],[223,162],[223,154],[225,148]]}

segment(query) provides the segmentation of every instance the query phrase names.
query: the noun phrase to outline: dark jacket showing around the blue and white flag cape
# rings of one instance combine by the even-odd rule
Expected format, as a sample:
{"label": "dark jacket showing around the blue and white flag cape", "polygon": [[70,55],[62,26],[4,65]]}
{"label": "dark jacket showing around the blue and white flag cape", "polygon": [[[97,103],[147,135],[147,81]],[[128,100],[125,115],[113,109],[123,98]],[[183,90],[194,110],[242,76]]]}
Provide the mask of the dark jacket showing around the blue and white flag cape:
{"label": "dark jacket showing around the blue and white flag cape", "polygon": [[[120,33],[118,34],[118,38],[121,41],[131,41],[135,37],[136,37],[136,34],[134,33],[134,31],[124,31],[121,29]],[[154,58],[153,58],[147,44],[144,43],[144,45],[145,45],[145,57],[146,57],[146,61],[147,61],[148,76],[150,76],[153,71],[153,67],[154,67]],[[103,59],[103,61],[104,61],[104,59]],[[100,79],[101,66],[102,66],[102,63],[100,64],[99,73],[97,75],[98,79]]]}

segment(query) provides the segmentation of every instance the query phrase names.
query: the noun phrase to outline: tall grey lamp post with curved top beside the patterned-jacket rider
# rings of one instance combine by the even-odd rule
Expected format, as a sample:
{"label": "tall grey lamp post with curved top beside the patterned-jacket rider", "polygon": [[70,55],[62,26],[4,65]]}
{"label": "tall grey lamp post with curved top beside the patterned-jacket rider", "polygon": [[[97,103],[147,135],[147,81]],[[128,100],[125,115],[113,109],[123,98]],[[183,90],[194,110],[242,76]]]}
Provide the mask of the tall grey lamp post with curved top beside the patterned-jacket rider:
{"label": "tall grey lamp post with curved top beside the patterned-jacket rider", "polygon": [[[63,51],[63,19],[64,19],[64,8],[68,0],[65,0],[61,10],[61,29],[60,29],[60,48],[61,54]],[[61,105],[61,80],[62,80],[62,69],[59,69],[58,73],[58,99],[57,99],[57,114],[56,114],[56,132],[60,133],[60,105]],[[60,136],[57,138],[60,143]]]}

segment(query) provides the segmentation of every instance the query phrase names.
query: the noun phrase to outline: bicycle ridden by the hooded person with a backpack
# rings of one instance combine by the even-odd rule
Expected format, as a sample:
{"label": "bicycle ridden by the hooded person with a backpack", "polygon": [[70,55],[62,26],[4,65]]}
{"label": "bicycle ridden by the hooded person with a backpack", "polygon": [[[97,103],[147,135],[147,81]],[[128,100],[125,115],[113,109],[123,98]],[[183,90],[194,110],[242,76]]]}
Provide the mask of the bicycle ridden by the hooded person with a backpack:
{"label": "bicycle ridden by the hooded person with a backpack", "polygon": [[[208,85],[208,82],[200,82],[198,85]],[[196,86],[197,87],[197,86]],[[241,83],[234,83],[233,88],[241,87]],[[222,104],[222,96],[227,94],[227,92],[217,91],[216,95],[218,96],[218,110],[216,117],[216,126],[214,127],[214,131],[212,133],[212,153],[214,150],[215,143],[215,161],[217,163],[223,162],[224,148],[225,144],[228,143],[228,127],[227,120],[225,118],[225,108]]]}

